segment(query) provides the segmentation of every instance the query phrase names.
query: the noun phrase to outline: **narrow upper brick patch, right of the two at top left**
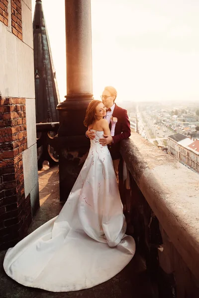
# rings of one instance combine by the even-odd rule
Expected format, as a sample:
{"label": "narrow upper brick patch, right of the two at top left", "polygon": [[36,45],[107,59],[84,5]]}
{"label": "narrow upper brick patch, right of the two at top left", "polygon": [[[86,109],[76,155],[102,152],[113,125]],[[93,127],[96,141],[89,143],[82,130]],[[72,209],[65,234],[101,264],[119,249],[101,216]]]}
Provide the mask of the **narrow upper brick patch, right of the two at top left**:
{"label": "narrow upper brick patch, right of the two at top left", "polygon": [[21,0],[11,0],[12,33],[22,40]]}

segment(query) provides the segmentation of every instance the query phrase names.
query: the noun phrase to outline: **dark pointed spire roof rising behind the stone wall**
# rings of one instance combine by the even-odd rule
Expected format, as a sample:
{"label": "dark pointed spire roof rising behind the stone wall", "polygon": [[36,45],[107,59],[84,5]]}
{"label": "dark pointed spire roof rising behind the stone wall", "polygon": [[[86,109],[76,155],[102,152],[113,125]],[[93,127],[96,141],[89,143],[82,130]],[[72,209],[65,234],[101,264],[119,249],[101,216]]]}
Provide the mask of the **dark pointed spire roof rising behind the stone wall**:
{"label": "dark pointed spire roof rising behind the stone wall", "polygon": [[60,99],[41,0],[35,3],[33,43],[36,122],[57,122]]}

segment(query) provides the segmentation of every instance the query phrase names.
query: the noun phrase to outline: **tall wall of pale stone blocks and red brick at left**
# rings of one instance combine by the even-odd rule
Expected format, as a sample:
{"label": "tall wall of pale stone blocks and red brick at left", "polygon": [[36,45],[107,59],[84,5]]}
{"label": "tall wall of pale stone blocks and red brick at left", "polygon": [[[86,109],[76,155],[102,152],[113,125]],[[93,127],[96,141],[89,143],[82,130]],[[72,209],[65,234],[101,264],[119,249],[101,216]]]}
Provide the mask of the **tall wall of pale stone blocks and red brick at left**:
{"label": "tall wall of pale stone blocks and red brick at left", "polygon": [[26,235],[39,208],[31,1],[0,0],[7,2],[8,23],[0,21],[0,249]]}

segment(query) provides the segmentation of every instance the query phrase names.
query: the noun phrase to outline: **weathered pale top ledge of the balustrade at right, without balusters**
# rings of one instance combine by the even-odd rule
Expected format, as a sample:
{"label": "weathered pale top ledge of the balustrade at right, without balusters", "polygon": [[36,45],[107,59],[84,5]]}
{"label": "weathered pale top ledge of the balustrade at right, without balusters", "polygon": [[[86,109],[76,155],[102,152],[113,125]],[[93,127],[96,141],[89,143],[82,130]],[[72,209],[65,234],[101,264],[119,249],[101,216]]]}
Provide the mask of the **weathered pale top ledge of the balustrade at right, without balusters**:
{"label": "weathered pale top ledge of the balustrade at right, without balusters", "polygon": [[121,154],[135,182],[199,282],[199,175],[137,133]]}

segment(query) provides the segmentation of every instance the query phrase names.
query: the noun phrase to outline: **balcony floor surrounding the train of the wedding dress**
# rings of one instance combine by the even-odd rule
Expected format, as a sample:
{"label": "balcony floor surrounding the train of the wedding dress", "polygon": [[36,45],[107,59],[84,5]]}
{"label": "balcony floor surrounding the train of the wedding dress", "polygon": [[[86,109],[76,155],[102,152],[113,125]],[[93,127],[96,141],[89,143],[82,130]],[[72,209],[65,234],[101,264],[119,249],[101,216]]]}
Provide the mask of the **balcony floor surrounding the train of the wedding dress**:
{"label": "balcony floor surrounding the train of the wedding dress", "polygon": [[[39,171],[40,209],[37,212],[29,233],[57,216],[64,203],[59,202],[58,167]],[[0,252],[2,264],[5,251]],[[155,291],[156,292],[156,291]],[[53,293],[24,287],[10,279],[0,267],[1,298],[157,298],[146,274],[145,263],[138,253],[131,262],[109,281],[91,289]]]}

